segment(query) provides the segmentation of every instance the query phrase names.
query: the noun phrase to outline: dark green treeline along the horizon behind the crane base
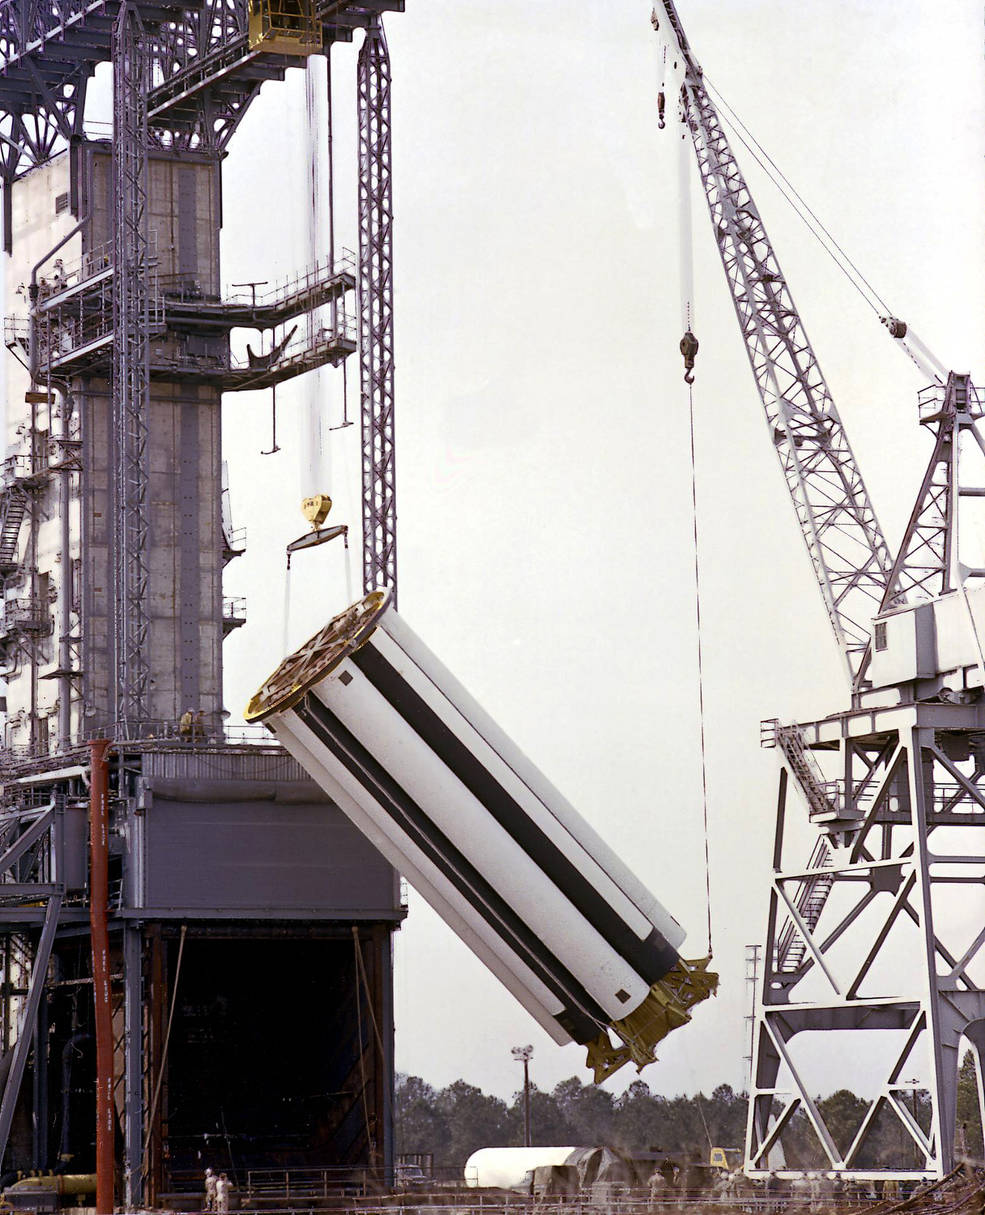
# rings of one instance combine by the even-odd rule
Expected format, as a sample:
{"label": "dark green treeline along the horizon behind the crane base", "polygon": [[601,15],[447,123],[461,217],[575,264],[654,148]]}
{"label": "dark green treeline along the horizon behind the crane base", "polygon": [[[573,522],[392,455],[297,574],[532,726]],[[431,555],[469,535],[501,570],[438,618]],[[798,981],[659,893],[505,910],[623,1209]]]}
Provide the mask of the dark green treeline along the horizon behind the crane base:
{"label": "dark green treeline along the horizon behind the crane base", "polygon": [[[924,1130],[930,1111],[927,1098],[907,1098]],[[867,1102],[842,1089],[817,1101],[839,1147],[854,1138]],[[506,1103],[464,1080],[436,1090],[420,1076],[397,1076],[396,1138],[398,1152],[429,1152],[441,1169],[460,1169],[480,1147],[513,1147],[523,1142],[523,1095]],[[968,1052],[958,1083],[958,1149],[981,1155],[981,1120],[974,1063]],[[746,1136],[746,1094],[720,1084],[712,1095],[666,1097],[642,1080],[624,1094],[585,1085],[577,1076],[550,1092],[531,1086],[531,1137],[534,1145],[611,1147],[622,1152],[658,1152],[685,1159],[708,1159],[712,1147],[740,1148]],[[870,1166],[908,1163],[913,1153],[899,1119],[890,1111],[877,1114],[866,1163]],[[826,1158],[799,1112],[785,1138],[791,1168],[823,1168]],[[862,1162],[860,1162],[862,1163]],[[915,1162],[916,1163],[916,1162]]]}

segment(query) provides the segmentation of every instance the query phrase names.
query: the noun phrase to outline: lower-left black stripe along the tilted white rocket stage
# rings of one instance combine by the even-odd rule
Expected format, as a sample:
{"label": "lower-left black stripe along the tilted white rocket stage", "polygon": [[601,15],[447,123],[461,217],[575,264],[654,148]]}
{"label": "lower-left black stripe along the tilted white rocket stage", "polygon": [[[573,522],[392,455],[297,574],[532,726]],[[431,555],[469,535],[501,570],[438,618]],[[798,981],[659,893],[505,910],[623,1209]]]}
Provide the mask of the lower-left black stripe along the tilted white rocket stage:
{"label": "lower-left black stripe along the tilted white rocket stage", "polygon": [[606,1011],[523,923],[475,866],[438,831],[425,812],[362,746],[335,714],[308,694],[294,712],[445,875],[509,949],[564,1005],[555,1021],[582,1045],[599,1036]]}

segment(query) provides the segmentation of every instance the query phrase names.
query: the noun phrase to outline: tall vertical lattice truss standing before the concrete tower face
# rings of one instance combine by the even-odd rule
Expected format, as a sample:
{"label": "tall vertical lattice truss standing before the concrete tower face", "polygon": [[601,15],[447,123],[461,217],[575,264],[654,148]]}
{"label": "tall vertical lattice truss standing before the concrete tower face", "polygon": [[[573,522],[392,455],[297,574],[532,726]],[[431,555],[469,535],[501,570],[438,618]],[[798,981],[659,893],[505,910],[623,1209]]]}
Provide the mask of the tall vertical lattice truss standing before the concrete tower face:
{"label": "tall vertical lattice truss standing before the concrete tower face", "polygon": [[113,28],[113,465],[114,717],[126,738],[148,712],[148,411],[151,400],[147,214],[149,45],[125,0]]}

